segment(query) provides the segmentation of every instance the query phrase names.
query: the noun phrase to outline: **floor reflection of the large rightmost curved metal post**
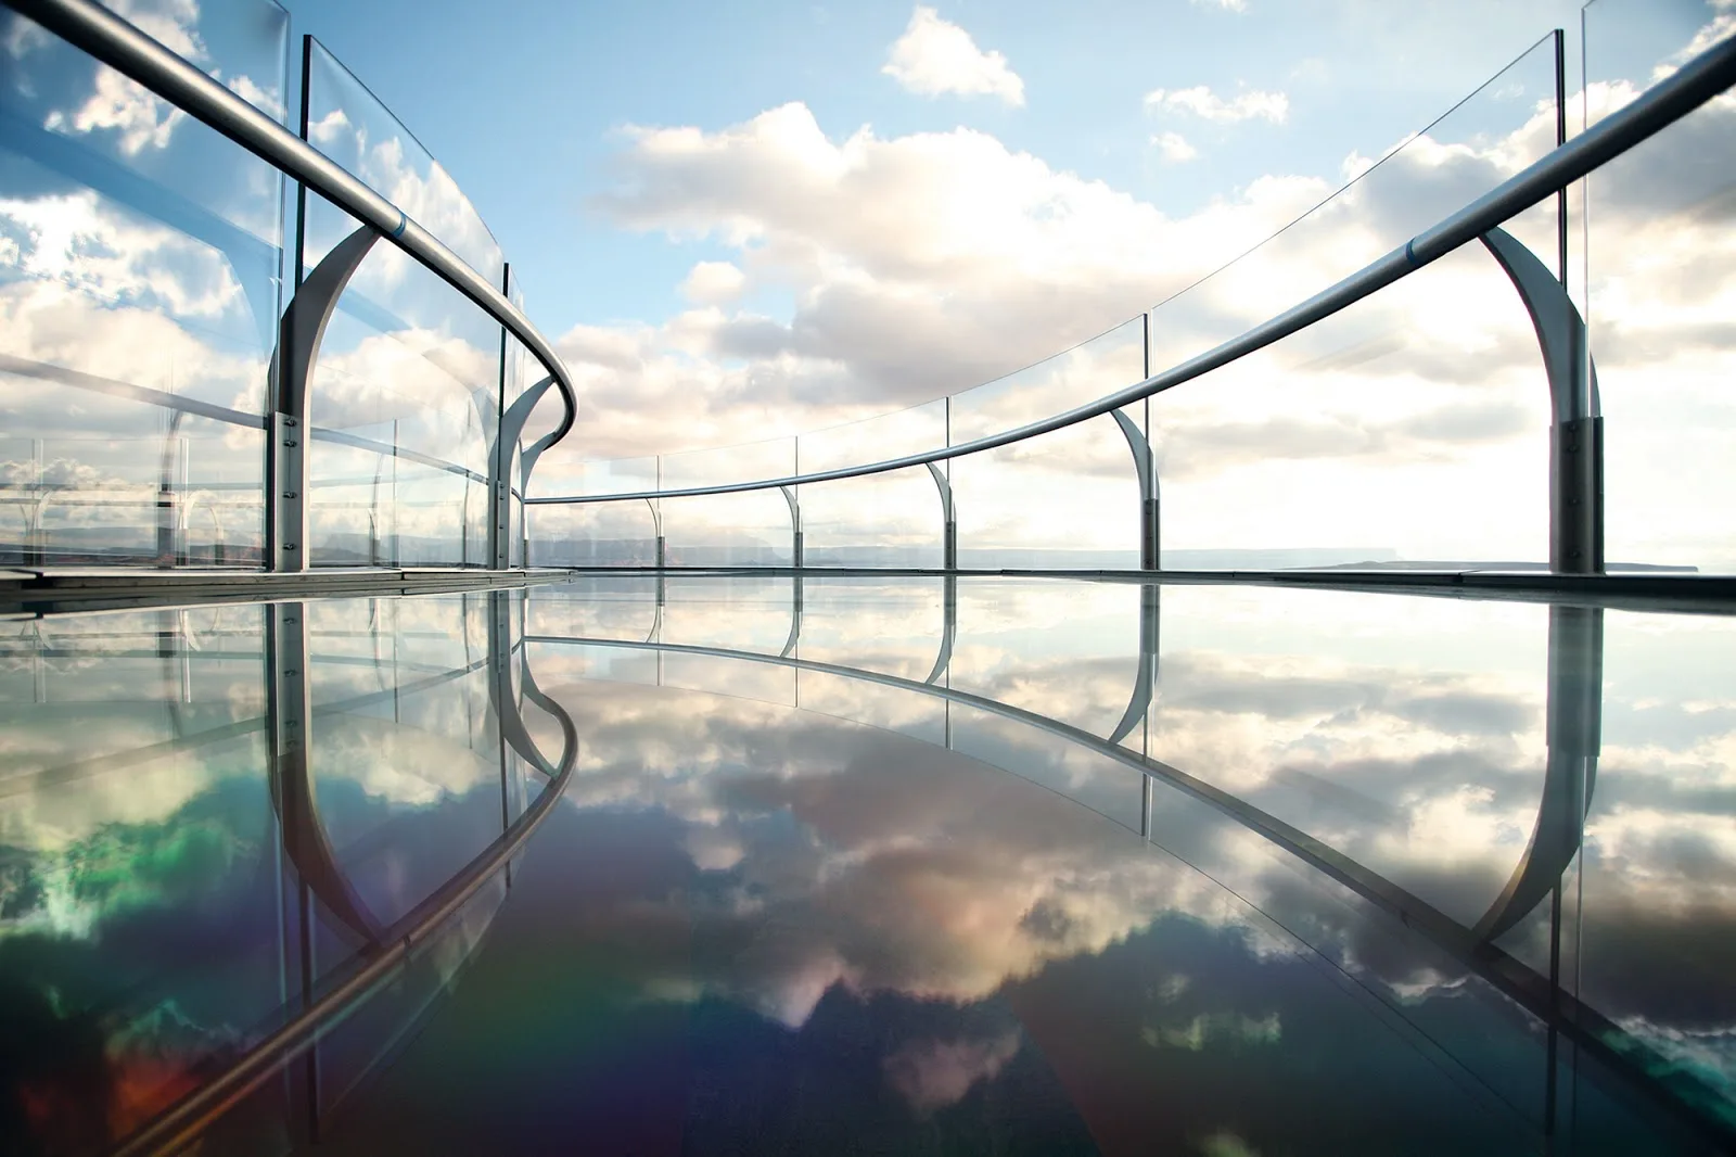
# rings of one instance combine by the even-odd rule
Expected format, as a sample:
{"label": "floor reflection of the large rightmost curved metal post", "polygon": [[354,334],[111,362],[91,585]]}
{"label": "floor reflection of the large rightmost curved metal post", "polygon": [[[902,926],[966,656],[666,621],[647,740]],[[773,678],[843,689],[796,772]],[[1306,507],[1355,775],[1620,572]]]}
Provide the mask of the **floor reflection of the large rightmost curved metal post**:
{"label": "floor reflection of the large rightmost curved metal post", "polygon": [[1549,766],[1531,843],[1512,879],[1472,933],[1495,940],[1542,903],[1573,865],[1585,839],[1585,817],[1602,749],[1604,612],[1601,606],[1549,608]]}

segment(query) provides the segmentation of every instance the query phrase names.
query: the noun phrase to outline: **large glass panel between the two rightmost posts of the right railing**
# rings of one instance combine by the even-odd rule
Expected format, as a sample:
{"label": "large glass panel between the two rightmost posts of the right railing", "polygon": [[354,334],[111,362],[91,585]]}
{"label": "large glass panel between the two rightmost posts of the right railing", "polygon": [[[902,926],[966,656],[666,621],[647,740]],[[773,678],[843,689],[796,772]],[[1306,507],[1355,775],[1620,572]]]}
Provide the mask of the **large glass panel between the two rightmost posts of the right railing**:
{"label": "large glass panel between the two rightmost posts of the right railing", "polygon": [[[1540,158],[1555,144],[1555,109],[1545,40],[1285,231],[1153,309],[1153,370],[1326,288]],[[1505,228],[1557,269],[1554,198]],[[1163,563],[1540,566],[1549,424],[1529,316],[1483,247],[1467,245],[1153,398]]]}

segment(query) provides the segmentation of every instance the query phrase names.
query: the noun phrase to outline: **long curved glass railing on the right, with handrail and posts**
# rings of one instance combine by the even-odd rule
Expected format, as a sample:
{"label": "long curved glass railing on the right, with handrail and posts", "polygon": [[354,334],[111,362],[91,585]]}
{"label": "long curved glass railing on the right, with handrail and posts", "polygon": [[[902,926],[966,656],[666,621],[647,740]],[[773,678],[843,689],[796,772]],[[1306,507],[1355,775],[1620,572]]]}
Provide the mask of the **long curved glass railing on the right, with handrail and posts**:
{"label": "long curved glass railing on the right, with handrail and posts", "polygon": [[[1647,59],[1620,49],[1634,57],[1620,75],[1639,80],[1616,109],[1595,47],[1632,45],[1634,24],[1654,43]],[[1585,228],[1580,181],[1632,170],[1616,158],[1649,141],[1672,162],[1698,158],[1700,193],[1727,189],[1731,167],[1708,160],[1729,155],[1727,31],[1715,21],[1689,50],[1680,21],[1599,0],[1587,9],[1587,82],[1609,115],[1576,139],[1587,85],[1573,92],[1557,33],[1387,156],[1351,158],[1335,193],[1285,191],[1305,212],[1241,257],[986,386],[755,446],[615,462],[580,462],[566,446],[529,499],[533,559],[1578,573],[1677,563],[1653,547],[1604,559],[1602,424],[1578,321],[1595,294],[1575,285],[1597,229]],[[1590,177],[1592,196],[1602,179]],[[1677,236],[1689,228],[1682,217]],[[1632,241],[1611,248],[1644,261]],[[1708,276],[1698,311],[1722,294]],[[1623,281],[1614,271],[1601,285],[1618,294]],[[1710,443],[1706,455],[1713,469]],[[1668,455],[1647,462],[1656,474]],[[1653,509],[1661,479],[1646,490]],[[1736,556],[1700,561],[1736,570]]]}

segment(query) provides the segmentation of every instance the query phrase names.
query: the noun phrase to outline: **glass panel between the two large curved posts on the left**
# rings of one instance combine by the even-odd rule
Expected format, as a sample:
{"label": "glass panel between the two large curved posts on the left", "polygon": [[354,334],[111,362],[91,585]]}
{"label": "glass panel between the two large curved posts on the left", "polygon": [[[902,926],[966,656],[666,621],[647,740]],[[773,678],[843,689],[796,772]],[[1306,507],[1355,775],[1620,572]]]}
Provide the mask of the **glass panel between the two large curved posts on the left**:
{"label": "glass panel between the two large curved posts on the left", "polygon": [[[502,285],[500,247],[446,170],[323,45],[307,50],[309,141]],[[356,229],[318,196],[304,224],[306,269]],[[398,247],[368,250],[311,386],[314,441],[328,443],[309,453],[314,565],[490,561],[500,337],[496,321]],[[347,448],[332,450],[333,440]]]}

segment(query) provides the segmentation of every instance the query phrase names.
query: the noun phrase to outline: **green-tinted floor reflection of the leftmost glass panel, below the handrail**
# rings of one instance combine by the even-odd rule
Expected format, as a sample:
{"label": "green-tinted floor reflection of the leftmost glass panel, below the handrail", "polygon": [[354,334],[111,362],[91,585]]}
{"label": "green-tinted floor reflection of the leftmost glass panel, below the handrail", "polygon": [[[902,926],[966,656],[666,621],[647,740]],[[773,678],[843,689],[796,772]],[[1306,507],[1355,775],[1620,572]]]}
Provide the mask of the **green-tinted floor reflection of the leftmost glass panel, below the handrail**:
{"label": "green-tinted floor reflection of the leftmost glass panel, below the handrail", "polygon": [[281,1002],[260,622],[132,612],[0,639],[26,672],[0,684],[7,1075],[47,1091],[30,1133],[7,1122],[16,1152],[106,1148]]}

